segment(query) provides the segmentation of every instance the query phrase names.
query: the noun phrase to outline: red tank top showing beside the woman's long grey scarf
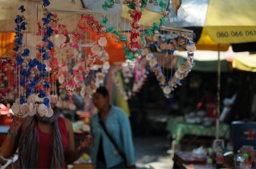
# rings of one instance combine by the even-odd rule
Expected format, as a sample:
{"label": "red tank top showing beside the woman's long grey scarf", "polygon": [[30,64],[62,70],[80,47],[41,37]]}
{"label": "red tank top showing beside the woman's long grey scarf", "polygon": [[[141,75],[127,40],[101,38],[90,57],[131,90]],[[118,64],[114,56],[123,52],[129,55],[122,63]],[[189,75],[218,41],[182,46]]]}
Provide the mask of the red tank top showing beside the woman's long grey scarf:
{"label": "red tank top showing beside the woman's long grey scarf", "polygon": [[[65,152],[67,150],[68,138],[66,124],[62,117],[58,117],[58,125],[62,136],[63,150]],[[37,168],[50,168],[52,135],[42,132],[38,125],[36,125],[36,128],[39,137]]]}

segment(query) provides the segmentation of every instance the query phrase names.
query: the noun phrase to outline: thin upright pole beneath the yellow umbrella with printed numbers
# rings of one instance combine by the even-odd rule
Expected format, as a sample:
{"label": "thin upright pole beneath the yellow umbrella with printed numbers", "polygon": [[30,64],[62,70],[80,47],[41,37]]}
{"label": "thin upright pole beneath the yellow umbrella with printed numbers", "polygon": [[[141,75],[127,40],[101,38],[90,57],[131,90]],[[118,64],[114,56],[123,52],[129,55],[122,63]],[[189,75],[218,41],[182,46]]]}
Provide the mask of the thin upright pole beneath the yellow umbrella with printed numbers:
{"label": "thin upright pole beneath the yellow umbrella with printed numbers", "polygon": [[218,44],[218,77],[217,77],[217,111],[216,111],[216,139],[219,139],[220,115],[220,44]]}

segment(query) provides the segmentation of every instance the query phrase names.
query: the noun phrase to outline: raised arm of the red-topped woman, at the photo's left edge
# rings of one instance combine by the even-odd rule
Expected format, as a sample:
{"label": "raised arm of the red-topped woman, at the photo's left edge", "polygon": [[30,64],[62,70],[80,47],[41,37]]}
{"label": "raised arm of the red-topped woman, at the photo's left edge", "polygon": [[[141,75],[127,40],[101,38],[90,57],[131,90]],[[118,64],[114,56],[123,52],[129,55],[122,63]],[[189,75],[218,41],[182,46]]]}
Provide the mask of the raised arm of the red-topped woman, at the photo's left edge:
{"label": "raised arm of the red-topped woman, at the photo's left edge", "polygon": [[6,136],[6,139],[4,139],[1,146],[1,155],[4,158],[13,156],[17,150],[22,121],[22,118],[18,118],[16,116],[12,120],[9,129],[10,134]]}

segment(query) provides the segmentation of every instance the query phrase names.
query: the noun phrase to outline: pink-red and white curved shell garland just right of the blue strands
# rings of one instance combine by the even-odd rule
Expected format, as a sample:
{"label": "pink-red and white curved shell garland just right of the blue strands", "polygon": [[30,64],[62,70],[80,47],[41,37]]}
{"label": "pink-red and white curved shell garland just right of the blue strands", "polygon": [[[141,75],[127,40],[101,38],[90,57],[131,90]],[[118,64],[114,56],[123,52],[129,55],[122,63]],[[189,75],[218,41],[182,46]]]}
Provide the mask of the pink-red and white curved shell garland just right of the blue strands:
{"label": "pink-red and white curved shell garland just right of the blue strands", "polygon": [[[68,45],[72,48],[78,48],[78,42],[86,38],[86,33],[88,31],[92,31],[96,34],[100,35],[100,38],[97,40],[97,43],[93,44],[92,48],[90,48],[90,52],[88,53],[86,59],[80,58],[80,65],[77,66],[76,70],[73,70],[73,80],[68,80],[69,76],[68,72],[60,71],[59,81],[62,84],[60,88],[66,88],[68,91],[72,92],[79,85],[78,82],[82,82],[86,79],[88,73],[90,72],[90,68],[94,65],[97,59],[104,58],[106,54],[105,47],[107,45],[107,40],[104,37],[106,33],[106,28],[96,21],[92,15],[83,15],[80,22],[77,24],[77,29],[73,31],[71,34],[72,43],[68,42],[68,44],[62,45],[62,47],[68,47]],[[109,57],[107,55],[107,57]],[[84,66],[81,65],[84,63]],[[66,65],[65,65],[66,66]],[[62,66],[64,68],[64,66]],[[66,81],[66,83],[65,83]]]}

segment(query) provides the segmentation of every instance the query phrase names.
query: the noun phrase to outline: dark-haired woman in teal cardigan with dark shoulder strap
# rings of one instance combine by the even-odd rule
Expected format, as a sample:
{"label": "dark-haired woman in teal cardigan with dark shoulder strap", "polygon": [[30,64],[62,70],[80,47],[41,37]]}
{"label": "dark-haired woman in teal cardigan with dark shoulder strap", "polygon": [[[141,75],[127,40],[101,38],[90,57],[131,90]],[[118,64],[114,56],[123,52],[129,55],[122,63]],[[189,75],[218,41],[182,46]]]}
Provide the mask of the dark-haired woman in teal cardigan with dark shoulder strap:
{"label": "dark-haired woman in teal cardigan with dark shoulder strap", "polygon": [[[92,164],[94,168],[136,168],[131,126],[125,112],[110,105],[109,92],[100,87],[93,95],[93,104],[99,110],[91,117],[90,127],[93,137]],[[100,124],[102,120],[116,146]],[[117,150],[118,149],[118,150]],[[120,153],[119,153],[120,152]],[[122,157],[120,154],[124,154]]]}

